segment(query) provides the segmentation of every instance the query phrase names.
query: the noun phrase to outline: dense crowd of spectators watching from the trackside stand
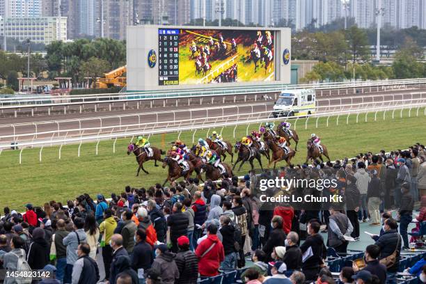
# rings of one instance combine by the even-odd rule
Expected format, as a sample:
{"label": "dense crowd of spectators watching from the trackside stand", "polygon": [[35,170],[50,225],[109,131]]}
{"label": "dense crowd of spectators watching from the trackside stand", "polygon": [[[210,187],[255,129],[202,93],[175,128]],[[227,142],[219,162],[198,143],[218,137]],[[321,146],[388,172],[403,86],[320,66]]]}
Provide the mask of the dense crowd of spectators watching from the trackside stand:
{"label": "dense crowd of spectators watching from the trackside stand", "polygon": [[[335,179],[337,186],[272,187],[270,196],[340,195],[343,201],[260,202],[261,180],[276,177]],[[335,283],[326,269],[327,248],[346,253],[349,240],[359,239],[362,222],[382,226],[381,232],[365,248],[364,265],[345,267],[340,281],[385,283],[395,278],[400,252],[409,248],[409,223],[426,221],[426,150],[416,144],[407,151],[313,161],[260,175],[251,171],[242,179],[203,185],[189,178],[170,187],[127,186],[109,200],[84,194],[66,206],[52,200],[42,207],[26,204],[25,210],[4,208],[0,269],[51,271],[54,278],[40,283],[96,283],[101,274],[110,284],[196,283],[243,267],[245,283]],[[422,261],[409,273],[425,282]]]}

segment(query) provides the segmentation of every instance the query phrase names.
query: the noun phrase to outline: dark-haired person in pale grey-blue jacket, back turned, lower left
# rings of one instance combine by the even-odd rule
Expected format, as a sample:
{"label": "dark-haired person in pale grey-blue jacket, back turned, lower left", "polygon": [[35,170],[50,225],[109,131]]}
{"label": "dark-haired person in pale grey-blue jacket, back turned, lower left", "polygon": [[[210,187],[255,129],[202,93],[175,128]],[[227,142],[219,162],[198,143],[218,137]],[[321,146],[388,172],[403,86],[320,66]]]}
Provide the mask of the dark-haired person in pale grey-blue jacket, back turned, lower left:
{"label": "dark-haired person in pale grey-blue jacket, back turned, lower left", "polygon": [[77,248],[82,242],[86,242],[86,232],[84,232],[84,219],[76,217],[74,219],[74,231],[63,238],[63,245],[67,248],[67,265],[65,266],[64,283],[71,283],[72,266],[76,262]]}

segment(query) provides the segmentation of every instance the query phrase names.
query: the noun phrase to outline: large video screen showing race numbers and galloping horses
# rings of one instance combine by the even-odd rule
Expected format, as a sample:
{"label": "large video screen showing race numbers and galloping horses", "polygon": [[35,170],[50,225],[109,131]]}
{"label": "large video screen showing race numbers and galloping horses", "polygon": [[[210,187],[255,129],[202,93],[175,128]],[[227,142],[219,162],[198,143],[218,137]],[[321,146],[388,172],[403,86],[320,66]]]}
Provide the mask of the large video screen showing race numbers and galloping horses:
{"label": "large video screen showing race numbers and galloping horses", "polygon": [[274,81],[271,31],[159,29],[159,85]]}

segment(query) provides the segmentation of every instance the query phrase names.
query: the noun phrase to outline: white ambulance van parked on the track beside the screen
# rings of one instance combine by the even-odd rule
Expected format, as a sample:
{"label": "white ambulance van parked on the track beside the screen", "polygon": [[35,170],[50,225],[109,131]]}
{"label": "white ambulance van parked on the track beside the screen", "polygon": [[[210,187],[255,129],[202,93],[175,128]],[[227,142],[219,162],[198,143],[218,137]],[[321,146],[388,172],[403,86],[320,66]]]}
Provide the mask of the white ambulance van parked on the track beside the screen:
{"label": "white ambulance van parked on the track beside the screen", "polygon": [[315,90],[283,90],[274,105],[274,118],[278,116],[306,116],[315,113]]}

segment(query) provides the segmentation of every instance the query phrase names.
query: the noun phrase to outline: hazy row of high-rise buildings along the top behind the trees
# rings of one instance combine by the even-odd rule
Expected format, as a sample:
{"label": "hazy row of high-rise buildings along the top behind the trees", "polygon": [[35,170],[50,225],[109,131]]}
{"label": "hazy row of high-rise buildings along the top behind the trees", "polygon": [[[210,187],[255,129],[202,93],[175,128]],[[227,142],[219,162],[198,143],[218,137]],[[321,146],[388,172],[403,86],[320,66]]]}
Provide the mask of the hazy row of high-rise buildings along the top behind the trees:
{"label": "hazy row of high-rise buildings along the top behind the trees", "polygon": [[[134,24],[182,25],[194,19],[237,19],[244,25],[276,26],[285,21],[301,30],[336,19],[354,18],[361,28],[374,27],[378,0],[0,0],[0,17],[67,17],[67,38],[125,39]],[[425,0],[381,0],[381,26],[426,29]],[[102,13],[103,10],[103,13]],[[102,20],[103,19],[103,20]],[[59,22],[60,23],[60,22]],[[58,24],[59,24],[58,23]],[[102,29],[103,26],[103,29]],[[1,34],[1,29],[0,29]]]}

